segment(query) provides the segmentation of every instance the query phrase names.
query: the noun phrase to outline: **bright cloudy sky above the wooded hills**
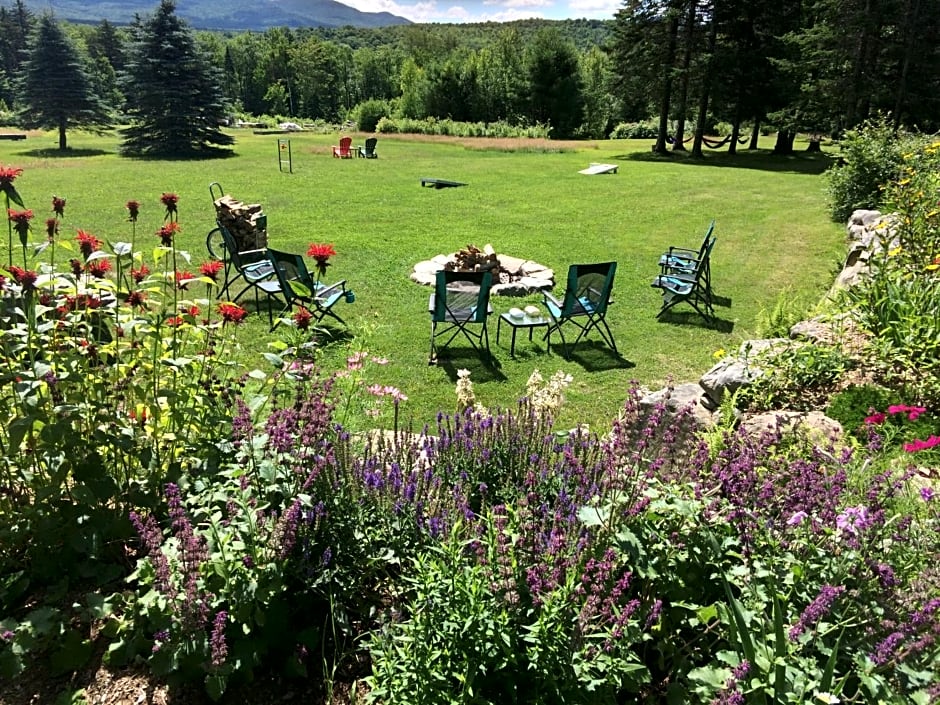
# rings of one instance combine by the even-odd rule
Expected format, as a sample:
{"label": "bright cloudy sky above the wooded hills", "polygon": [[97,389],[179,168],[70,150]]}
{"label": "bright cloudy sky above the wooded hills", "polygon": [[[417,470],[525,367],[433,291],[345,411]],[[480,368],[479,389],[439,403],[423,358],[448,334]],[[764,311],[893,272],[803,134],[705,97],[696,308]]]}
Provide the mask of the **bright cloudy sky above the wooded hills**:
{"label": "bright cloudy sky above the wooded hills", "polygon": [[609,20],[622,0],[339,0],[363,12],[391,12],[412,22],[509,22],[531,17],[547,20]]}

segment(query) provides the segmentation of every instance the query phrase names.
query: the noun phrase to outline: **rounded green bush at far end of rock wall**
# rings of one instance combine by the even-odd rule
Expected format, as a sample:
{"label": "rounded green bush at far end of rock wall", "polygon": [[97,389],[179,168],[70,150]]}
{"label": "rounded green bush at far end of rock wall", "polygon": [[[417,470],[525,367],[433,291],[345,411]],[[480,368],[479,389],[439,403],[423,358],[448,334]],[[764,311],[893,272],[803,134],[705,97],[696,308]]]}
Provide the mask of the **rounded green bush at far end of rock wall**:
{"label": "rounded green bush at far end of rock wall", "polygon": [[829,213],[834,221],[844,223],[858,208],[874,210],[882,205],[885,187],[900,178],[902,154],[911,139],[885,118],[845,134],[839,162],[827,172]]}

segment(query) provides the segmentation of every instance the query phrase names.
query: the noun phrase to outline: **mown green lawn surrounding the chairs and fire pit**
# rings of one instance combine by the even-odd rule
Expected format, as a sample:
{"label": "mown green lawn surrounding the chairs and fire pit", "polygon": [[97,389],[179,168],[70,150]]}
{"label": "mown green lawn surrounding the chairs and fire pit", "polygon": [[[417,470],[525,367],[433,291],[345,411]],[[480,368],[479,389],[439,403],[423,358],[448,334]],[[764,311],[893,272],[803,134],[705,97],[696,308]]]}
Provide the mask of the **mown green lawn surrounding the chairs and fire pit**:
{"label": "mown green lawn surrounding the chairs and fire pit", "polygon": [[[242,132],[233,156],[206,161],[125,159],[117,155],[115,135],[81,133],[70,134],[73,150],[60,156],[52,133],[35,133],[24,142],[0,142],[0,164],[24,169],[16,186],[36,212],[36,240],[52,215],[53,194],[68,201],[63,237],[83,228],[111,241],[130,239],[124,204],[136,199],[143,204],[137,246],[147,252],[159,242],[159,196],[172,191],[180,195],[178,246],[192,253],[195,271],[214,227],[208,187],[217,181],[226,193],[264,206],[272,247],[305,251],[311,242],[333,243],[338,254],[327,278],[347,279],[356,293],[354,304],[338,309],[349,323],[349,345],[389,359],[370,371],[368,382],[399,387],[409,397],[404,417],[419,426],[439,410],[453,410],[459,368],[471,370],[479,401],[491,407],[513,404],[537,368],[545,377],[560,369],[574,378],[563,423],[602,429],[631,380],[656,388],[669,378],[698,379],[715,350],[754,337],[761,310],[779,296],[817,299],[843,255],[843,228],[826,216],[825,154],[781,158],[760,150],[692,161],[653,157],[649,140],[569,143],[559,151],[551,143],[381,136],[378,159],[340,160],[330,156],[336,136],[285,137],[293,173],[286,164],[279,171],[278,136]],[[362,136],[354,138],[354,145],[361,143]],[[619,173],[579,174],[589,162],[618,164]],[[421,177],[468,185],[421,188]],[[659,254],[669,245],[697,246],[713,218],[714,286],[730,302],[717,309],[720,325],[710,329],[694,317],[658,322],[659,296],[650,282]],[[411,268],[436,254],[488,243],[554,268],[556,281],[563,281],[570,263],[616,260],[608,321],[622,357],[587,344],[566,362],[546,354],[538,336],[530,344],[520,335],[513,359],[508,336],[495,345],[494,318],[495,368],[462,347],[429,367],[429,290],[409,280]],[[528,303],[540,297],[493,300],[497,312]],[[247,366],[264,367],[260,353],[277,335],[267,329],[266,316],[252,316],[242,328]],[[328,346],[325,364],[343,366],[349,350]],[[387,422],[388,416],[378,421]]]}

